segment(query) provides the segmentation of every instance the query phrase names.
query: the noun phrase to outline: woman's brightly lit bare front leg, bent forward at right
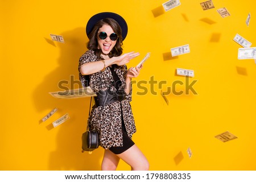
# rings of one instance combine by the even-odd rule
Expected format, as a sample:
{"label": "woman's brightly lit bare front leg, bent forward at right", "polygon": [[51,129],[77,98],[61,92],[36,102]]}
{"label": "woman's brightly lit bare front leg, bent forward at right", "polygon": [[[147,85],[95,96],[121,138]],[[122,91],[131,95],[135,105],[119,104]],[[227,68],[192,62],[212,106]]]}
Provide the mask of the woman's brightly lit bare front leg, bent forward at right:
{"label": "woman's brightly lit bare front leg, bent forward at right", "polygon": [[129,164],[133,171],[147,171],[149,169],[146,157],[142,154],[136,144],[117,156]]}

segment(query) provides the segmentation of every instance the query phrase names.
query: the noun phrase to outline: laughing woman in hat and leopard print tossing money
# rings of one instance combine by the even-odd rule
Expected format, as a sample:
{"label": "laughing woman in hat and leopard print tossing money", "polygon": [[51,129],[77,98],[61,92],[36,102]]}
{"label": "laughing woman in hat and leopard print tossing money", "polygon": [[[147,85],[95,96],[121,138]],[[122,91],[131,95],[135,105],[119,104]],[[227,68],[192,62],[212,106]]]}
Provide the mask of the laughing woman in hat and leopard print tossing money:
{"label": "laughing woman in hat and leopard print tossing money", "polygon": [[88,125],[98,131],[105,149],[101,169],[115,170],[122,159],[132,170],[148,170],[146,157],[131,140],[136,132],[130,105],[131,78],[137,77],[141,68],[127,71],[126,64],[139,55],[122,55],[127,24],[118,14],[100,13],[89,19],[86,34],[89,50],[80,57],[79,76],[82,86],[90,86],[97,93]]}

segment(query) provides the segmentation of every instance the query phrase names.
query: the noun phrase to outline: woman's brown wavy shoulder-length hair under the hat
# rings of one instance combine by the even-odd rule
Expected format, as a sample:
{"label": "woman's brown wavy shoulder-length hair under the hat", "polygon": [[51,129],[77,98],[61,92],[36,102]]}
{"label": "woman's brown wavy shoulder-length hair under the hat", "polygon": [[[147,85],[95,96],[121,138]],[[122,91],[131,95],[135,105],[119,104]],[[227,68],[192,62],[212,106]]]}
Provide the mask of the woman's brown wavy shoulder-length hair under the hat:
{"label": "woman's brown wavy shoulder-length hair under the hat", "polygon": [[112,18],[105,18],[105,19],[101,19],[100,21],[98,21],[94,27],[92,32],[90,32],[90,34],[88,35],[89,37],[89,42],[87,43],[87,48],[90,50],[93,50],[98,58],[98,60],[101,60],[101,49],[98,49],[98,30],[104,25],[107,24],[110,27],[112,27],[113,31],[115,32],[115,34],[118,35],[118,39],[117,42],[115,43],[115,46],[113,47],[113,49],[110,51],[109,53],[109,58],[113,57],[113,56],[120,56],[123,53],[123,39],[122,39],[122,30],[121,27],[119,26],[119,24],[117,23],[117,21],[115,21]]}

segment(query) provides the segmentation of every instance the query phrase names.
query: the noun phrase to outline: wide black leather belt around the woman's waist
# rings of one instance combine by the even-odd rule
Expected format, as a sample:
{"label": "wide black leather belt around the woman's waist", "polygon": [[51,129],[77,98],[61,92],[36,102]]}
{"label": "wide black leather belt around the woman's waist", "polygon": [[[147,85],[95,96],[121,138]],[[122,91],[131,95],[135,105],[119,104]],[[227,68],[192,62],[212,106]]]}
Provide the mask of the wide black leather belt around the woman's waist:
{"label": "wide black leather belt around the woman's waist", "polygon": [[97,94],[97,97],[94,97],[96,107],[107,105],[115,101],[121,102],[126,99],[125,90],[122,90],[121,92],[106,90],[106,91],[100,91],[96,94]]}

